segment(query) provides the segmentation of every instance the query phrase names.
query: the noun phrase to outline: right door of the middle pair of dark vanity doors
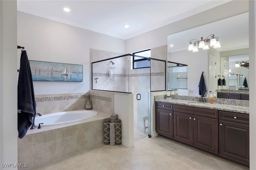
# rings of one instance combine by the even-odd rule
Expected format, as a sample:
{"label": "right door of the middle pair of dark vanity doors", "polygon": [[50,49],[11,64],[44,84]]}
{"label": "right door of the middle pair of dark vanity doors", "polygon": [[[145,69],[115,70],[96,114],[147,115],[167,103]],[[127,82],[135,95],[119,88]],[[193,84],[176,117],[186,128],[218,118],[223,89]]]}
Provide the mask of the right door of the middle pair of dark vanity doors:
{"label": "right door of the middle pair of dark vanity doors", "polygon": [[193,145],[218,154],[218,119],[193,116]]}

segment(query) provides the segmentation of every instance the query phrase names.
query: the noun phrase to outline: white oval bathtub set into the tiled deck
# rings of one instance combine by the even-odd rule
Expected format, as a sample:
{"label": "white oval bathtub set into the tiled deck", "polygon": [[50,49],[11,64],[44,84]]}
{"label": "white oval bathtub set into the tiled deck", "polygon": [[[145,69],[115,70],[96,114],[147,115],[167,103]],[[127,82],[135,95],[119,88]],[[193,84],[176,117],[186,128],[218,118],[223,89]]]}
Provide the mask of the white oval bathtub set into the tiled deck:
{"label": "white oval bathtub set into the tiled deck", "polygon": [[93,110],[76,110],[76,111],[62,111],[57,113],[50,113],[42,116],[36,116],[35,125],[44,123],[41,126],[54,126],[75,121],[81,121],[97,115]]}

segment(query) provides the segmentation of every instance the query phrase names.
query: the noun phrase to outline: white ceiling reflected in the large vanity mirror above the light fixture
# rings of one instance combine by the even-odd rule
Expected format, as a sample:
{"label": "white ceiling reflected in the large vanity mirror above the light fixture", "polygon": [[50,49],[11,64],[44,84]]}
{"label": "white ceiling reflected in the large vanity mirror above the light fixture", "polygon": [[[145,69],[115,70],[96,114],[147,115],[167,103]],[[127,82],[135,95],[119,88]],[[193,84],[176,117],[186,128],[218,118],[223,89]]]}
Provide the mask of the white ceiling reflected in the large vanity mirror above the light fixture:
{"label": "white ceiling reflected in the large vanity mirror above the light fixture", "polygon": [[[206,39],[210,34],[219,38],[221,48],[218,51],[229,51],[249,47],[249,14],[248,12],[219,20],[206,25],[188,29],[168,36],[168,52],[188,50],[191,39]],[[174,45],[170,47],[169,45]],[[202,49],[198,49],[199,52]]]}

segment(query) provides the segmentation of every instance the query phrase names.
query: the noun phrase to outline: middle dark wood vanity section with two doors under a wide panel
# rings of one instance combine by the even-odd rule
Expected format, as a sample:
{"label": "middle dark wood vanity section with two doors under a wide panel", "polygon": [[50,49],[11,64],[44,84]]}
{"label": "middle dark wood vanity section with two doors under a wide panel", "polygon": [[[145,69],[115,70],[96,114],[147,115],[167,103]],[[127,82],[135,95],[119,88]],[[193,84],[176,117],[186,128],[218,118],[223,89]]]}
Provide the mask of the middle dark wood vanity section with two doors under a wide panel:
{"label": "middle dark wood vanity section with two doors under a wide panel", "polygon": [[218,154],[218,110],[174,104],[174,139]]}

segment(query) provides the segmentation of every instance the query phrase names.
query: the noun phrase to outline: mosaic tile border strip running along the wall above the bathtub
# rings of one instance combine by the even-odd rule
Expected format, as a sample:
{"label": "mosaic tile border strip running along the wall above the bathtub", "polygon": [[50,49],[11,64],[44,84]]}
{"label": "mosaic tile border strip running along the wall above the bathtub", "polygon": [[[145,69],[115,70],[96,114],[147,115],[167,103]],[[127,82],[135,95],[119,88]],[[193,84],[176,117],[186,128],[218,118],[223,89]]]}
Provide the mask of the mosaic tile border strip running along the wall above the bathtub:
{"label": "mosaic tile border strip running along the wall above the bathtub", "polygon": [[84,95],[76,95],[76,96],[54,96],[54,97],[44,97],[44,98],[35,98],[36,102],[52,102],[52,101],[61,101],[61,100],[78,100],[78,99],[84,99],[84,98],[90,98],[97,99],[97,100],[102,100],[105,102],[112,102],[112,98],[107,98],[104,96],[96,96],[96,95],[89,95],[89,94],[84,94]]}

